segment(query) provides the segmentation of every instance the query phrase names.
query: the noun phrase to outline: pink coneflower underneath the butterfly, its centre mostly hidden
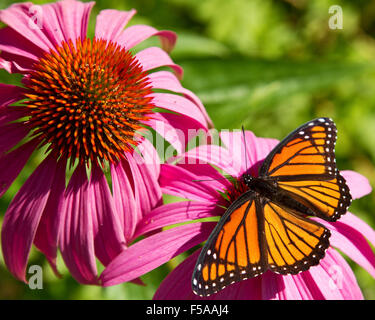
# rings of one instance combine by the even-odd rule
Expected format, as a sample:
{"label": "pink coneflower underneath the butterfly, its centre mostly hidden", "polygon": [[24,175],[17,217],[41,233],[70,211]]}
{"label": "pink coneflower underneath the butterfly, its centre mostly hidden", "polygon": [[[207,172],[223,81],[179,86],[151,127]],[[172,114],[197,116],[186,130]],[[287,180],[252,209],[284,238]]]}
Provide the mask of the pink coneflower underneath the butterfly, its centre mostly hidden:
{"label": "pink coneflower underneath the butterfly, its centre mostly hidden", "polygon": [[[223,175],[209,164],[232,177],[240,178],[246,171],[256,175],[264,158],[278,143],[274,139],[257,138],[246,132],[222,133],[230,151],[216,145],[192,149],[182,156],[184,164],[162,165],[160,183],[163,192],[190,201],[166,204],[156,208],[137,229],[136,234],[146,234],[164,226],[192,220],[221,216],[231,199],[241,190],[236,189]],[[236,154],[244,154],[241,161]],[[199,164],[194,164],[199,163]],[[366,178],[353,171],[342,171],[353,199],[371,191]],[[229,197],[223,197],[223,195]],[[206,299],[362,299],[356,278],[335,250],[339,249],[375,277],[375,256],[368,241],[375,244],[375,232],[362,220],[347,212],[335,223],[323,222],[331,230],[331,246],[320,264],[297,275],[282,276],[271,271],[256,278],[243,280],[226,287]],[[195,222],[180,225],[154,234],[137,242],[126,255],[120,254],[102,273],[103,285],[129,281],[148,272],[180,253],[207,240],[215,222]],[[197,250],[162,282],[154,299],[202,299],[191,288],[191,278],[200,250]]]}

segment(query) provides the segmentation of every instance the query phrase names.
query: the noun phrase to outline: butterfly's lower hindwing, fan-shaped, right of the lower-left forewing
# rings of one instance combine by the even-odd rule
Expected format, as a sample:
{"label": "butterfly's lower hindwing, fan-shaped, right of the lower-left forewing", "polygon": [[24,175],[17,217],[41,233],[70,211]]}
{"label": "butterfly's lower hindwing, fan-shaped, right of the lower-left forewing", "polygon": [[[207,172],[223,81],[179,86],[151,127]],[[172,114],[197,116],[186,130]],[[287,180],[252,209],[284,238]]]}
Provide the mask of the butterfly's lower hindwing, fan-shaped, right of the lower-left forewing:
{"label": "butterfly's lower hindwing, fan-shaped, right of the lower-left forewing", "polygon": [[270,270],[297,274],[324,257],[330,232],[323,225],[268,200],[264,200],[263,213]]}

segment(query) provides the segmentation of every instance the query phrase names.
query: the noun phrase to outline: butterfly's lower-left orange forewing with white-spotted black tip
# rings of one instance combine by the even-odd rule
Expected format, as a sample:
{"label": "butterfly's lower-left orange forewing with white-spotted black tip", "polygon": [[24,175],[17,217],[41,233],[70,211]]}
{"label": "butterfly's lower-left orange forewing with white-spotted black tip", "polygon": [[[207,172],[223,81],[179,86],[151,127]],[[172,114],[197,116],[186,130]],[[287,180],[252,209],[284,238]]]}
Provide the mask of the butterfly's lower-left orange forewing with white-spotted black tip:
{"label": "butterfly's lower-left orange forewing with white-spotted black tip", "polygon": [[267,269],[264,219],[258,197],[245,192],[232,203],[198,257],[193,291],[208,296]]}

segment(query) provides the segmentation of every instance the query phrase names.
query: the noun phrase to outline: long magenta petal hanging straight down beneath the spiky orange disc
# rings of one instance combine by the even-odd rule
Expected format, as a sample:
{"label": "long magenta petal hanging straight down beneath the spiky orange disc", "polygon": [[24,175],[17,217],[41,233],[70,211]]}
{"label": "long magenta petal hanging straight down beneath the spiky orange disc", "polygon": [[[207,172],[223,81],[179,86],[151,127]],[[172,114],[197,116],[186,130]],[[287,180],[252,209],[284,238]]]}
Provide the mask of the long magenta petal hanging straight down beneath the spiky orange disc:
{"label": "long magenta petal hanging straight down beneath the spiky orange disc", "polygon": [[73,277],[83,284],[97,283],[94,230],[86,168],[79,165],[65,192],[60,233],[62,257]]}

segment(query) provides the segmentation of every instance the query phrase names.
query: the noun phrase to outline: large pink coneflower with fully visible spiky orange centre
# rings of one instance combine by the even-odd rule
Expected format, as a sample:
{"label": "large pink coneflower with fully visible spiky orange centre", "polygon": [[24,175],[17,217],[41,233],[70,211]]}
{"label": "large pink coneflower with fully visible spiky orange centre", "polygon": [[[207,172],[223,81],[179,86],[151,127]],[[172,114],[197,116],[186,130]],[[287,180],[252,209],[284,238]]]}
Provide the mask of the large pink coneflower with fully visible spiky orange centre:
{"label": "large pink coneflower with fully visible spiky orange centre", "polygon": [[[157,153],[139,132],[150,126],[166,136],[166,128],[207,130],[210,122],[199,99],[180,85],[182,69],[165,51],[130,51],[151,36],[169,51],[173,32],[145,25],[124,30],[135,10],[103,10],[90,39],[93,5],[66,0],[0,11],[7,25],[0,29],[0,66],[23,75],[23,87],[0,84],[0,195],[35,150],[45,154],[2,227],[5,263],[22,281],[34,243],[55,271],[60,249],[76,280],[98,283],[96,258],[108,265],[161,203]],[[165,66],[177,77],[149,73]],[[166,138],[174,142],[173,134]],[[142,154],[133,152],[136,146]]]}

